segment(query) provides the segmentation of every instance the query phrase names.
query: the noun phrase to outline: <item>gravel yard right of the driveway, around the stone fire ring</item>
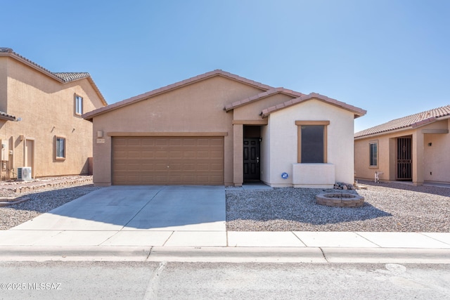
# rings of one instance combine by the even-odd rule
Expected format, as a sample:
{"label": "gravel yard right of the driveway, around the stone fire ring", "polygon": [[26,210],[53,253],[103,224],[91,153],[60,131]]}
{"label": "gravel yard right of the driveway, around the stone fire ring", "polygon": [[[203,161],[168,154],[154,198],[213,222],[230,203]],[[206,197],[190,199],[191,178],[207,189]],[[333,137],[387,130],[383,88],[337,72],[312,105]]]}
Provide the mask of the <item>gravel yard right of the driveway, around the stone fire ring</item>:
{"label": "gravel yard right of the driveway, around the stone fire ring", "polygon": [[402,183],[364,183],[351,191],[363,207],[316,204],[323,191],[309,188],[228,190],[226,229],[232,231],[393,231],[450,232],[450,188]]}

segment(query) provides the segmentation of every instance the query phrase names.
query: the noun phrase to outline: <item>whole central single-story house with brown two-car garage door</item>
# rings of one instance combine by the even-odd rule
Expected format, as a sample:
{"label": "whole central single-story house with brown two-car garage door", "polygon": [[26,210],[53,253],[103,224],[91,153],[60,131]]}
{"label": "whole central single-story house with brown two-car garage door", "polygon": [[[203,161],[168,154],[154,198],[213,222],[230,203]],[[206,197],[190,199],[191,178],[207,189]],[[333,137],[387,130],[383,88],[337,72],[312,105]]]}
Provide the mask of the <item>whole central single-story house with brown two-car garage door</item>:
{"label": "whole central single-story house with brown two-car garage door", "polygon": [[98,108],[96,185],[330,188],[354,181],[361,108],[214,70]]}

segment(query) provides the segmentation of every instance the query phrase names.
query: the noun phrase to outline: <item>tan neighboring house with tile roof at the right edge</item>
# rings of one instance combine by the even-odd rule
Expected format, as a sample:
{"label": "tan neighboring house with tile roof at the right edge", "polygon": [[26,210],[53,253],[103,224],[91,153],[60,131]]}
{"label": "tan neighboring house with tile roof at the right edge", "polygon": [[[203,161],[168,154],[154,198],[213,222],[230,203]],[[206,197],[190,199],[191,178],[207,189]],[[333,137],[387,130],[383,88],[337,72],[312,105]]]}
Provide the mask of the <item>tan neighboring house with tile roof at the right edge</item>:
{"label": "tan neighboring house with tile roof at the right edge", "polygon": [[450,183],[449,127],[446,105],[355,133],[356,178]]}

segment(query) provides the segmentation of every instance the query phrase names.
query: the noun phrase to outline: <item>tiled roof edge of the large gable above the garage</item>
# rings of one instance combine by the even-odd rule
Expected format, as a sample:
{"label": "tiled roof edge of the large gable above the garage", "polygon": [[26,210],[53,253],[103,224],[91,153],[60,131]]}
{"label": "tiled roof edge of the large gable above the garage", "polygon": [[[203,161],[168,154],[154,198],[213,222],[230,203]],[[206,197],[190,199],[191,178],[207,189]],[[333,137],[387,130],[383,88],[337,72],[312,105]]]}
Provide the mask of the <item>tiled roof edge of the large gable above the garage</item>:
{"label": "tiled roof edge of the large gable above the garage", "polygon": [[155,89],[153,91],[149,91],[147,93],[143,93],[141,95],[134,96],[134,97],[131,97],[129,99],[122,100],[120,102],[113,103],[113,104],[110,104],[110,105],[105,106],[105,107],[98,108],[97,110],[93,110],[91,112],[87,112],[86,114],[83,115],[83,117],[84,117],[84,119],[92,119],[94,116],[101,115],[101,114],[103,114],[105,112],[108,112],[110,110],[116,110],[117,108],[129,105],[131,103],[136,103],[136,102],[139,102],[141,100],[146,100],[146,99],[148,99],[150,97],[157,96],[160,93],[165,93],[167,91],[172,91],[174,89],[179,89],[179,88],[181,88],[183,86],[187,86],[188,84],[193,84],[195,82],[202,81],[204,79],[207,79],[207,78],[210,78],[210,77],[214,77],[214,76],[221,76],[221,77],[226,77],[226,78],[229,78],[229,79],[233,79],[233,80],[239,81],[239,82],[241,82],[243,84],[248,84],[250,86],[255,86],[256,88],[262,89],[263,91],[274,89],[273,87],[268,86],[266,84],[262,84],[262,83],[257,82],[257,81],[253,81],[253,80],[250,80],[250,79],[247,79],[247,78],[244,78],[244,77],[240,77],[238,75],[231,74],[229,72],[225,72],[225,71],[222,71],[222,70],[214,70],[214,71],[211,71],[211,72],[207,72],[205,74],[200,74],[198,76],[191,77],[189,79],[185,79],[183,81],[176,82],[174,84],[169,84],[168,86],[163,86],[162,88]]}

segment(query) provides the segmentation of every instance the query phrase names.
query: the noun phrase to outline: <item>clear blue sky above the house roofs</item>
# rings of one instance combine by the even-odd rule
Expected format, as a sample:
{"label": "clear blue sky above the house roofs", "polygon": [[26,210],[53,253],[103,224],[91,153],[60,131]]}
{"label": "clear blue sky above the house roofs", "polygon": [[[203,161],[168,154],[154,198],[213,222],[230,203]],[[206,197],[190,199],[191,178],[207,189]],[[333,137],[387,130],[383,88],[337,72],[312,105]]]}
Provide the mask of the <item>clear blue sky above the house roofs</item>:
{"label": "clear blue sky above the house roofs", "polygon": [[115,103],[215,69],[361,107],[450,104],[448,0],[0,0],[0,46]]}

